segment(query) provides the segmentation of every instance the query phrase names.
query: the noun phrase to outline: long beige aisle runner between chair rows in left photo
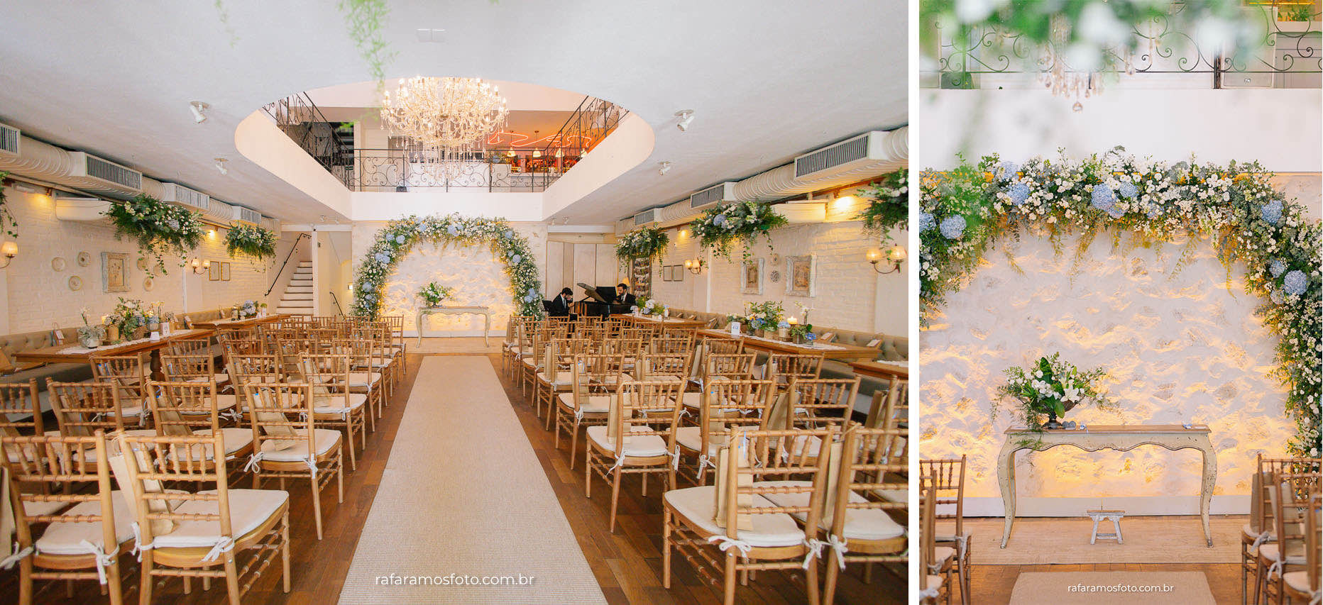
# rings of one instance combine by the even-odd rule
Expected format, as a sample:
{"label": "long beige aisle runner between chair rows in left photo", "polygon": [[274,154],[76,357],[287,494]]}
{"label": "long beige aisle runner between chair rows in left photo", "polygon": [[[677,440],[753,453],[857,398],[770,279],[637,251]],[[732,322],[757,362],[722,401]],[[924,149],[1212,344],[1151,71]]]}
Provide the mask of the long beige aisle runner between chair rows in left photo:
{"label": "long beige aisle runner between chair rows in left photo", "polygon": [[606,602],[487,358],[425,358],[407,406],[340,602]]}

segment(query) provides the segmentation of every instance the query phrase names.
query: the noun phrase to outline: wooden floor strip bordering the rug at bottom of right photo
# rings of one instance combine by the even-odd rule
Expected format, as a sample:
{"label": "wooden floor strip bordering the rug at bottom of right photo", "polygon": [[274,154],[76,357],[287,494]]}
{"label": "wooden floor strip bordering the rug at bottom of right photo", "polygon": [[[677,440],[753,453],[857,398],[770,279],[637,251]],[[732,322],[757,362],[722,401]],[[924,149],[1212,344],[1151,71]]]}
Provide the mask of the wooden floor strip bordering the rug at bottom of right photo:
{"label": "wooden floor strip bordering the rug at bottom of right photo", "polygon": [[[978,605],[1005,605],[1021,572],[1204,572],[1213,600],[1241,602],[1240,565],[1234,563],[1093,563],[1076,565],[974,565],[970,568],[970,594]],[[1254,587],[1250,587],[1253,597]],[[953,596],[958,602],[959,592]],[[1175,604],[1172,604],[1175,605]]]}

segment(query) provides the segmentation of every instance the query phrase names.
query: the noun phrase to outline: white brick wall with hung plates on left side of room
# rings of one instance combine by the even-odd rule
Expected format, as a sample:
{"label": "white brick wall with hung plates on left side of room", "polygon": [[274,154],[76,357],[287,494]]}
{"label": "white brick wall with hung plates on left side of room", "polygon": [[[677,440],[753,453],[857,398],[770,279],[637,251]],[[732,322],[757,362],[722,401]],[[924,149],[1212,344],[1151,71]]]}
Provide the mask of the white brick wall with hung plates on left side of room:
{"label": "white brick wall with hung plates on left side of room", "polygon": [[[5,273],[8,301],[8,333],[33,332],[82,324],[78,310],[87,308],[89,317],[108,313],[118,300],[139,299],[163,301],[168,310],[205,310],[229,306],[241,300],[257,300],[269,285],[267,268],[254,266],[247,259],[230,259],[225,254],[224,230],[205,236],[189,258],[201,256],[213,263],[230,263],[230,281],[209,281],[206,275],[192,275],[187,267],[176,267],[167,259],[167,275],[153,279],[153,288],[143,287],[144,271],[136,260],[142,254],[130,239],[116,240],[108,219],[70,222],[56,218],[54,199],[45,194],[29,194],[13,188],[4,190],[9,211],[19,221],[19,256]],[[78,252],[89,252],[87,267],[78,266]],[[103,293],[101,287],[101,252],[126,252],[130,258],[128,292]],[[65,259],[65,269],[54,271],[52,260]],[[69,277],[82,279],[82,289],[69,289]]]}

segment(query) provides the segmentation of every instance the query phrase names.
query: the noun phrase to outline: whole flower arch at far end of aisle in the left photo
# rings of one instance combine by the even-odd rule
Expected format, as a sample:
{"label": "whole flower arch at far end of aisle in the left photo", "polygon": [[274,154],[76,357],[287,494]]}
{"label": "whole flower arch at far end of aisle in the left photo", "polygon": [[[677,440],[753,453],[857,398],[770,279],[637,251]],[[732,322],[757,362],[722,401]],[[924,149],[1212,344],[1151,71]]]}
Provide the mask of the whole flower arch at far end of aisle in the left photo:
{"label": "whole flower arch at far end of aisle in the left photo", "polygon": [[487,244],[505,263],[509,289],[519,314],[542,317],[542,283],[537,279],[528,239],[516,234],[503,219],[447,217],[407,217],[393,221],[377,232],[377,240],[359,266],[353,285],[356,316],[377,317],[386,277],[414,244],[431,242],[463,246]]}

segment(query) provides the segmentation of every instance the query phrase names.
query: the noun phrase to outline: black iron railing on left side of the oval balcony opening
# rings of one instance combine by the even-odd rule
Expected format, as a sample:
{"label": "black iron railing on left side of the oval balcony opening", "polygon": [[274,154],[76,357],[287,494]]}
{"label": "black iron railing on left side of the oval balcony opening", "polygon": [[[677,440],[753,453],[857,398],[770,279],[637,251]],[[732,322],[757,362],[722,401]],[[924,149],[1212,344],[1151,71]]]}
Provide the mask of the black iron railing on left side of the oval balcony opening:
{"label": "black iron railing on left side of the oval balcony opening", "polygon": [[262,110],[331,176],[349,185],[353,178],[352,124],[328,120],[304,92],[267,103]]}

